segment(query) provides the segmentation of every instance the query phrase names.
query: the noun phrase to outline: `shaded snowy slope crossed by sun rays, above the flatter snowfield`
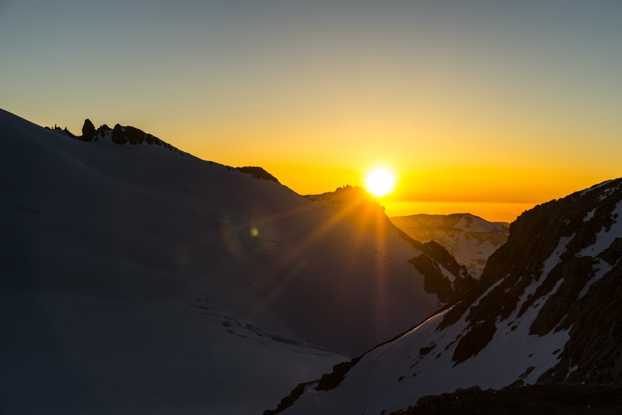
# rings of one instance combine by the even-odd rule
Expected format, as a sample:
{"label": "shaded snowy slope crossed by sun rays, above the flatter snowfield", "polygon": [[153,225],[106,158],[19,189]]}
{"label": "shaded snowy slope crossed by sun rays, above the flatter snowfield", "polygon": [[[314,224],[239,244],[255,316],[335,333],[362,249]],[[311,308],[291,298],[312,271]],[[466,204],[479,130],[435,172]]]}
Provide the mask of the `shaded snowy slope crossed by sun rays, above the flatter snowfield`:
{"label": "shaded snowy slope crossed by sun rays, above the flatter snowfield", "polygon": [[274,181],[155,145],[153,136],[149,145],[138,129],[98,131],[85,142],[0,113],[2,288],[200,296],[346,353],[437,308],[407,262],[421,252],[397,230],[362,227]]}

